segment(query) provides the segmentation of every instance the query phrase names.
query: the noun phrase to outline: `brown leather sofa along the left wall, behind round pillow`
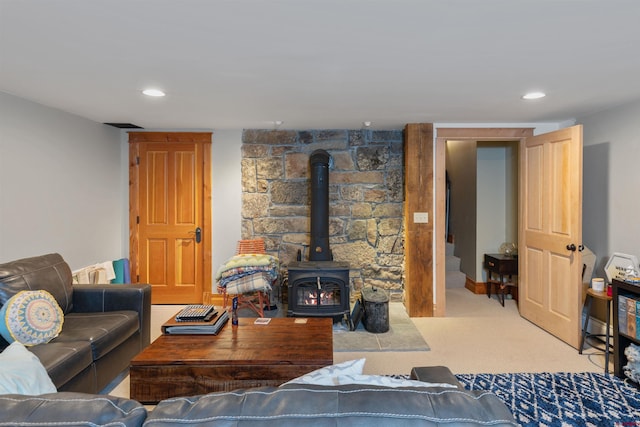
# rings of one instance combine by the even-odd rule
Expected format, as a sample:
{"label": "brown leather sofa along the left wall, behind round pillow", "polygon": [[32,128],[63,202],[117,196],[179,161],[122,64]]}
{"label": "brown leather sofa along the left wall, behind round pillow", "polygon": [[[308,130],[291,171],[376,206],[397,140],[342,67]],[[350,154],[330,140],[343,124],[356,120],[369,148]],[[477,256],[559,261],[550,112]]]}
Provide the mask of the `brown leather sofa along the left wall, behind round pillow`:
{"label": "brown leather sofa along the left wall, behind round pillow", "polygon": [[[58,391],[98,393],[149,345],[151,286],[72,285],[71,269],[53,253],[0,264],[0,307],[22,290],[46,290],[64,313],[62,331],[28,347]],[[0,337],[0,351],[9,343]]]}

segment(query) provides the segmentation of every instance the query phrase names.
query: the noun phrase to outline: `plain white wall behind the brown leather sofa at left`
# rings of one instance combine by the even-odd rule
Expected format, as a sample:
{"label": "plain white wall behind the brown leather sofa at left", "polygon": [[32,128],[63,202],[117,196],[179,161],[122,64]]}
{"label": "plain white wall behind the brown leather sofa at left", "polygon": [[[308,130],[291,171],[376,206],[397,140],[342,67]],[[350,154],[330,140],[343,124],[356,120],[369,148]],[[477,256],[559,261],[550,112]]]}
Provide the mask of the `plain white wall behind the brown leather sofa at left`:
{"label": "plain white wall behind the brown leather sofa at left", "polygon": [[0,93],[0,262],[125,255],[121,168],[117,129]]}

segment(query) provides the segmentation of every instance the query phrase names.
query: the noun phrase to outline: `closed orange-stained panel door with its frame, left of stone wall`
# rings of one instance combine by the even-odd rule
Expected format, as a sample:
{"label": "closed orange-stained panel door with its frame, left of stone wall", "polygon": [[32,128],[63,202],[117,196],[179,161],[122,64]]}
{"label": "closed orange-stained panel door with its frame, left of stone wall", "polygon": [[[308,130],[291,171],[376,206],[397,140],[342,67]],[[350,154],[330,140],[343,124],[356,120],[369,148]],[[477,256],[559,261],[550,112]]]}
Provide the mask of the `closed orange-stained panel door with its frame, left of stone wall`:
{"label": "closed orange-stained panel door with its frame, left of stone wall", "polygon": [[131,132],[132,278],[153,304],[202,302],[211,289],[211,133]]}

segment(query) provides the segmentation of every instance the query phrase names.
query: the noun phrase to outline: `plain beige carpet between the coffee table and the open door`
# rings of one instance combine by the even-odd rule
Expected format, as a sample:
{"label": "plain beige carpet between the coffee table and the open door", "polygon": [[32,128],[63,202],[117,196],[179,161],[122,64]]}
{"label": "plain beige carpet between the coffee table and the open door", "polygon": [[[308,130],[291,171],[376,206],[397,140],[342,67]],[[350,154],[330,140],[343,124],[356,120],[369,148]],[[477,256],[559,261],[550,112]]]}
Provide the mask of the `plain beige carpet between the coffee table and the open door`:
{"label": "plain beige carpet between the coffee table and the open door", "polygon": [[[153,306],[152,340],[180,306]],[[412,318],[429,351],[334,351],[334,363],[366,358],[365,374],[409,374],[414,366],[448,366],[456,374],[504,372],[603,372],[604,356],[583,354],[520,317],[517,304],[447,289],[446,317]],[[613,357],[610,358],[613,369]],[[128,376],[112,392],[129,396]]]}

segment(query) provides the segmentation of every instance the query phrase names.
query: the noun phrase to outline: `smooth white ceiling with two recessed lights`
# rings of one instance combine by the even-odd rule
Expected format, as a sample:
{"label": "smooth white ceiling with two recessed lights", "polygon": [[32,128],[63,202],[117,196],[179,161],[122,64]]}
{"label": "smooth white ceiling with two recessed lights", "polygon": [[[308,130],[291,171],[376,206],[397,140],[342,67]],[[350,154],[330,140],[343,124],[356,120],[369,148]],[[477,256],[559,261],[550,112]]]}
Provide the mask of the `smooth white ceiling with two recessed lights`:
{"label": "smooth white ceiling with two recessed lights", "polygon": [[0,0],[0,91],[161,129],[558,122],[640,99],[639,20],[638,0]]}

